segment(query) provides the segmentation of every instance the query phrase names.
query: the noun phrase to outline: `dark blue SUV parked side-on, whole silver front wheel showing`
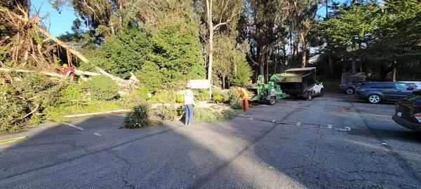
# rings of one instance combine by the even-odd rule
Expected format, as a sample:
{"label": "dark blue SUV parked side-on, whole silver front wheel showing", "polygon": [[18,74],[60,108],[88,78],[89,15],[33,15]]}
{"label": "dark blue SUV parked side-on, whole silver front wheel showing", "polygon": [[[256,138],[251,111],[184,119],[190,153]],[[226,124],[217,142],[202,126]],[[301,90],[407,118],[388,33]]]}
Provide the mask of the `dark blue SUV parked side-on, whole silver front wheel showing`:
{"label": "dark blue SUV parked side-on, whole silver front wheel showing", "polygon": [[413,94],[414,87],[402,82],[373,82],[356,88],[355,97],[371,104],[382,101],[397,101]]}

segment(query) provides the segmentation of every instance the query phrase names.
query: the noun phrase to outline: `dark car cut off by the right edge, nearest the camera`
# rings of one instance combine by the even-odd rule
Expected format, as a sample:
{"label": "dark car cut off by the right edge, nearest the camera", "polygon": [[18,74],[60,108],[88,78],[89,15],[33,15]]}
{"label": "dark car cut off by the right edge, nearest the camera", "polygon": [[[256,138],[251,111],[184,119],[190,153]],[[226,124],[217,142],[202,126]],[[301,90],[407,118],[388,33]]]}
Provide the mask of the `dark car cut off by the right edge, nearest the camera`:
{"label": "dark car cut off by the right edge, nearest the camera", "polygon": [[421,132],[421,90],[396,102],[392,119],[403,127]]}

